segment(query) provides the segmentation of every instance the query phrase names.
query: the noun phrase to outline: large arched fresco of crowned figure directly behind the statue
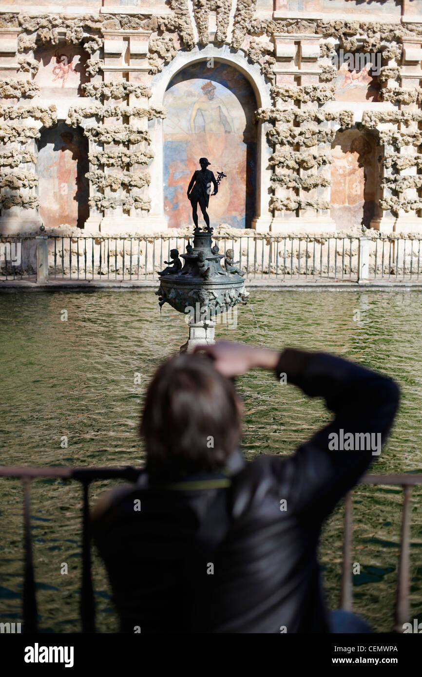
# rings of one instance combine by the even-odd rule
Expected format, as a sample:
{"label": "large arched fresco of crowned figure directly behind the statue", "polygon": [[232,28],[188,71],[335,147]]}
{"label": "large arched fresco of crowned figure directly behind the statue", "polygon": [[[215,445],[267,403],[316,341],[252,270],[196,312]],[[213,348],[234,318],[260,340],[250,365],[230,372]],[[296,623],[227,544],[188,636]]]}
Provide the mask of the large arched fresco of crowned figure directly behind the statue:
{"label": "large arched fresco of crowned figure directly behind the statue", "polygon": [[[251,227],[255,216],[257,108],[249,82],[226,64],[207,62],[185,68],[165,94],[164,194],[169,227],[192,223],[186,196],[190,177],[205,156],[216,175],[227,178],[210,201],[211,225]],[[201,219],[200,219],[201,225]]]}

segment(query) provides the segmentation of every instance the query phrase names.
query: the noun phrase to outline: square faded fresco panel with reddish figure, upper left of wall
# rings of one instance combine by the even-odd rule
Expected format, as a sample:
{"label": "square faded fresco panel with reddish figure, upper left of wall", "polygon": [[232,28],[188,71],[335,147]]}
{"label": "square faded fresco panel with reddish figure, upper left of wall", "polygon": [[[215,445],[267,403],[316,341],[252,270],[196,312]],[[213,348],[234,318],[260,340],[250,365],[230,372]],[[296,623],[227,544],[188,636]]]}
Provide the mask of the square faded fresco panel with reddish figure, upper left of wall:
{"label": "square faded fresco panel with reddish figure, upper left of wall", "polygon": [[89,82],[85,72],[87,52],[77,45],[41,47],[35,52],[39,70],[34,81],[43,97],[83,96],[81,85]]}

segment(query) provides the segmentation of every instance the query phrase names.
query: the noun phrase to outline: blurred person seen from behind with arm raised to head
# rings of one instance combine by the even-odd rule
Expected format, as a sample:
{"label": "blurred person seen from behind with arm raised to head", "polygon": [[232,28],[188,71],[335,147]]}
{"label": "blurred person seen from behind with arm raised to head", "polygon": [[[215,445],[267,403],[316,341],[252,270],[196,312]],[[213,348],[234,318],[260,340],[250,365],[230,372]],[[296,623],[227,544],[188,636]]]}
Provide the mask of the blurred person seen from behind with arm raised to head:
{"label": "blurred person seen from behind with arm raised to head", "polygon": [[[140,423],[144,471],[93,511],[121,632],[370,632],[327,609],[317,551],[324,520],[387,437],[396,383],[326,353],[228,342],[199,350],[156,371]],[[291,456],[246,463],[233,379],[251,369],[324,398],[333,420]],[[376,449],[333,450],[336,436],[364,433]]]}

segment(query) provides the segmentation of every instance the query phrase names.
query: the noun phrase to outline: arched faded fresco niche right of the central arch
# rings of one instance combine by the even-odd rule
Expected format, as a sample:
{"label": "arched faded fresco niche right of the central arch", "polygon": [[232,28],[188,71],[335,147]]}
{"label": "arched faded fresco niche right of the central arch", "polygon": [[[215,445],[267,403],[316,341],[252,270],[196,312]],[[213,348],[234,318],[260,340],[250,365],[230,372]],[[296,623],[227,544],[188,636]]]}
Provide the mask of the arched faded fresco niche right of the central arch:
{"label": "arched faded fresco niche right of the central arch", "polygon": [[377,137],[356,129],[337,132],[331,148],[331,217],[337,230],[368,228],[379,209]]}

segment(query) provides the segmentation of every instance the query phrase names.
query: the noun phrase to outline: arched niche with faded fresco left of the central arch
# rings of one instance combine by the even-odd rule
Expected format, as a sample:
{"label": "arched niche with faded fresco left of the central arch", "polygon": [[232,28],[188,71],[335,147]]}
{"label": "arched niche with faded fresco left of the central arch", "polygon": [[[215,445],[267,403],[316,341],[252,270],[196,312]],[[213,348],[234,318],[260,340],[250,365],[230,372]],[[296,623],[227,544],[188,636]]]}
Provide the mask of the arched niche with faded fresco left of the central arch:
{"label": "arched niche with faded fresco left of the central arch", "polygon": [[88,140],[81,127],[41,129],[37,142],[39,215],[45,227],[83,228],[89,216]]}

